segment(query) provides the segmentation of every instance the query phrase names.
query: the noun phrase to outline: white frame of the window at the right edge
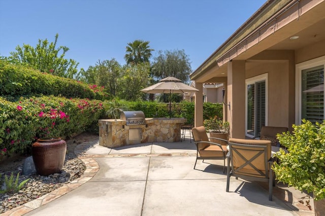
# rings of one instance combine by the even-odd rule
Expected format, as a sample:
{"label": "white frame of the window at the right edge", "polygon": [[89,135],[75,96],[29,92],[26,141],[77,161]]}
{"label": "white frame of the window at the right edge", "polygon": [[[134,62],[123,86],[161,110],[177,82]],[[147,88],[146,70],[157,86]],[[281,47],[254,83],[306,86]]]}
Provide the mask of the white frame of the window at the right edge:
{"label": "white frame of the window at the right edge", "polygon": [[[316,66],[324,66],[325,70],[325,56],[321,56],[318,58],[314,58],[308,61],[304,61],[302,63],[296,64],[296,125],[301,124],[301,74],[302,70],[316,67]],[[325,71],[324,71],[325,73]],[[325,90],[325,87],[324,87]],[[325,97],[325,96],[324,96]],[[325,114],[325,106],[324,106],[324,114]]]}

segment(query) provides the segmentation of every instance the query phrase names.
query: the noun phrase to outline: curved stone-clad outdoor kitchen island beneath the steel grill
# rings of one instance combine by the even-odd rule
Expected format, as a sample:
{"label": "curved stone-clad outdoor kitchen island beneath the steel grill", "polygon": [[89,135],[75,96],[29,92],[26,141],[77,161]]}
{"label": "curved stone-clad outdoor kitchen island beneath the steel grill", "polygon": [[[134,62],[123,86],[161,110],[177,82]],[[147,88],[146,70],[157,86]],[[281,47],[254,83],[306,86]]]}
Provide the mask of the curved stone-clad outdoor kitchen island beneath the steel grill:
{"label": "curved stone-clad outdoor kitchen island beneath the steel grill", "polygon": [[145,142],[178,142],[184,118],[145,118],[142,124],[122,119],[99,120],[100,146],[109,148]]}

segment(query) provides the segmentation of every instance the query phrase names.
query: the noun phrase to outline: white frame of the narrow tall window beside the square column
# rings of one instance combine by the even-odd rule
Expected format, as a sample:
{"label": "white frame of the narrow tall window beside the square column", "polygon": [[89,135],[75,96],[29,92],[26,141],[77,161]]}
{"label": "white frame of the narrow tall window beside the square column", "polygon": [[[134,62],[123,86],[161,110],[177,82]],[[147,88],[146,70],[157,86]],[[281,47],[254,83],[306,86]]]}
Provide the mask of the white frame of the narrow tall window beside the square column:
{"label": "white frame of the narrow tall window beside the square column", "polygon": [[248,78],[245,80],[245,88],[246,88],[245,89],[245,135],[248,137],[254,137],[254,136],[247,133],[247,120],[248,120],[248,116],[247,116],[247,86],[257,83],[257,82],[265,81],[265,126],[267,126],[268,125],[268,77],[269,77],[269,74],[265,73],[265,74],[261,74],[256,77]]}

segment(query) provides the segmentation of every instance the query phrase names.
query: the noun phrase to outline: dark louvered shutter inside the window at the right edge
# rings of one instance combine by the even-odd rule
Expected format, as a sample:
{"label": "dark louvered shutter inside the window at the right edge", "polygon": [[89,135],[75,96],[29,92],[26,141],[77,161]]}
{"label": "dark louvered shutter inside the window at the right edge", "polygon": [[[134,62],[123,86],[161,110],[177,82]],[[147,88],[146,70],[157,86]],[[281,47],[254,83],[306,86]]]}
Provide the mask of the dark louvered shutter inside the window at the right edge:
{"label": "dark louvered shutter inside the window at the right edge", "polygon": [[302,70],[302,119],[324,119],[324,65]]}

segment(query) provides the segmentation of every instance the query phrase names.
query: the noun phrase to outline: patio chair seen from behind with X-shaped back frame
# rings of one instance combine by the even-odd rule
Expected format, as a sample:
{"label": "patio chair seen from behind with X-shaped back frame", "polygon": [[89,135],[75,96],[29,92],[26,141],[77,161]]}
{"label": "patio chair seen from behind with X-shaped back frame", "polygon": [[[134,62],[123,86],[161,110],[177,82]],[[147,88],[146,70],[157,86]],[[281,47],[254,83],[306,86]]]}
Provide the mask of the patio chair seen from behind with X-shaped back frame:
{"label": "patio chair seen from behind with X-shaped back frame", "polygon": [[227,185],[229,192],[230,177],[235,176],[247,181],[269,182],[269,200],[272,201],[272,190],[275,184],[271,165],[271,141],[253,139],[229,140],[227,154]]}

